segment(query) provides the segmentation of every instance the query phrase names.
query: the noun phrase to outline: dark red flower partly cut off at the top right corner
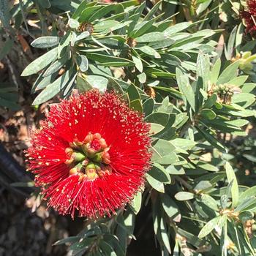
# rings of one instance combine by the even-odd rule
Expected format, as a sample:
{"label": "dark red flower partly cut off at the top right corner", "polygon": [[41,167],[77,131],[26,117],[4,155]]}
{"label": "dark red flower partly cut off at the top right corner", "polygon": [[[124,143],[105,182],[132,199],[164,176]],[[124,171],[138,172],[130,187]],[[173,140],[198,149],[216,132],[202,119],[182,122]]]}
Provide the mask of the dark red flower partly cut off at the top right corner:
{"label": "dark red flower partly cut off at the top right corner", "polygon": [[246,24],[246,33],[255,37],[256,35],[256,1],[247,0],[245,10],[241,11],[241,18],[244,18]]}

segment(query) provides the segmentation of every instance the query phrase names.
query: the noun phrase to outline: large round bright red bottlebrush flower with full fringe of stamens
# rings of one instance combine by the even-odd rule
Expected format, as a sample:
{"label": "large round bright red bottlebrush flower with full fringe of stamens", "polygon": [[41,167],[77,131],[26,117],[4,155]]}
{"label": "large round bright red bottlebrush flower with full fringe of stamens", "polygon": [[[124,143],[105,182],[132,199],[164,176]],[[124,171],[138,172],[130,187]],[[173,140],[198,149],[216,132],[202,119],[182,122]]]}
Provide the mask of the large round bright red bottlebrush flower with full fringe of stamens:
{"label": "large round bright red bottlebrush flower with full fringe of stamens", "polygon": [[87,91],[50,109],[32,135],[29,170],[60,214],[110,216],[143,186],[148,132],[143,116],[116,94]]}

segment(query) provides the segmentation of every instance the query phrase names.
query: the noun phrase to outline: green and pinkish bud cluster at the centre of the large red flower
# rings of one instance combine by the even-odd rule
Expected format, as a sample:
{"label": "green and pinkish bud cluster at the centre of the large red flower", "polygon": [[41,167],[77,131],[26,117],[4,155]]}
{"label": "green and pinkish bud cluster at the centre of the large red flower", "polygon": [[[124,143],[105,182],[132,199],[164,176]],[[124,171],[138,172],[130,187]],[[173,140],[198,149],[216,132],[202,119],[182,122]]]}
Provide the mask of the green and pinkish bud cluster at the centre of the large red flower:
{"label": "green and pinkish bud cluster at the centre of the large red flower", "polygon": [[69,175],[78,175],[79,181],[87,179],[93,181],[105,175],[109,175],[112,170],[109,166],[110,155],[105,140],[99,133],[89,134],[83,141],[73,141],[66,148],[66,165],[69,165]]}

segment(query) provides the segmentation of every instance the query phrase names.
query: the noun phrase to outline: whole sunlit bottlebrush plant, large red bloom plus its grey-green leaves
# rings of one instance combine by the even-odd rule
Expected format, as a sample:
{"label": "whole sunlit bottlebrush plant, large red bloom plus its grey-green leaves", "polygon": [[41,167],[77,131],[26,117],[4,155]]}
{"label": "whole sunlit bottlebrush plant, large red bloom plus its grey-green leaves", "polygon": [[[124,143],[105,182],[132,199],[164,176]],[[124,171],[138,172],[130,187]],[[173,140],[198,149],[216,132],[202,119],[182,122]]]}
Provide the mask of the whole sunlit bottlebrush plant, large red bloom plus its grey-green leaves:
{"label": "whole sunlit bottlebrush plant, large red bloom plus its grey-green leaves", "polygon": [[127,255],[139,225],[162,255],[256,254],[256,186],[236,161],[256,115],[249,7],[82,1],[31,43],[45,49],[22,73],[37,75],[33,105],[57,105],[31,138],[29,170],[49,206],[86,220],[56,244]]}

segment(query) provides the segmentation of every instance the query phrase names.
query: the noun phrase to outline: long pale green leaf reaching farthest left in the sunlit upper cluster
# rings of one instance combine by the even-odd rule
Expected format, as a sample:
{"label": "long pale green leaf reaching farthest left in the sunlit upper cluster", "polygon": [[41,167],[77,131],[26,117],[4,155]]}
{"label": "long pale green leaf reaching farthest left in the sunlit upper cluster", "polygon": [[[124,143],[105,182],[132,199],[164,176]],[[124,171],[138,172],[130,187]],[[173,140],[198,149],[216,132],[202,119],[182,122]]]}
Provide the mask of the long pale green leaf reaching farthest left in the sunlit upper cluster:
{"label": "long pale green leaf reaching farthest left in the sunlit upper cluster", "polygon": [[47,53],[43,54],[39,58],[29,64],[26,69],[23,70],[21,76],[33,75],[40,70],[44,69],[48,64],[57,59],[58,48],[53,48],[49,50]]}

